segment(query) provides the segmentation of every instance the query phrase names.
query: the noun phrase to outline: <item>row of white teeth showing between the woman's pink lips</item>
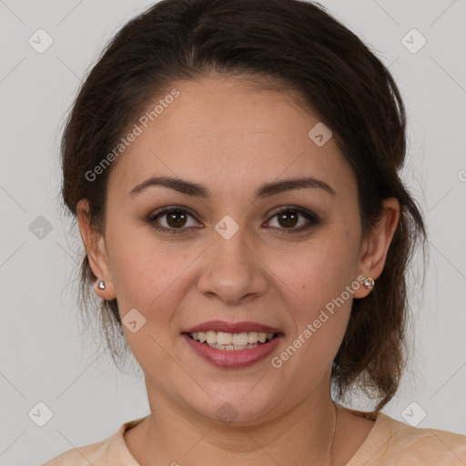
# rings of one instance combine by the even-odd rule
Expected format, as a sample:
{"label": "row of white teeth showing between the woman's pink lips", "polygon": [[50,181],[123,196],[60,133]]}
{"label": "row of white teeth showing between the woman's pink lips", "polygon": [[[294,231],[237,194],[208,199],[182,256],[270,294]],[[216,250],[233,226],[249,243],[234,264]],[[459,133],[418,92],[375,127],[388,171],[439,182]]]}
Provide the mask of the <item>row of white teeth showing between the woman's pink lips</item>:
{"label": "row of white teeth showing between the woman's pink lips", "polygon": [[258,343],[265,343],[266,340],[273,339],[274,333],[265,333],[257,331],[241,332],[241,333],[225,333],[222,331],[196,331],[189,335],[200,341],[206,342],[208,346],[218,349],[247,349],[256,348]]}

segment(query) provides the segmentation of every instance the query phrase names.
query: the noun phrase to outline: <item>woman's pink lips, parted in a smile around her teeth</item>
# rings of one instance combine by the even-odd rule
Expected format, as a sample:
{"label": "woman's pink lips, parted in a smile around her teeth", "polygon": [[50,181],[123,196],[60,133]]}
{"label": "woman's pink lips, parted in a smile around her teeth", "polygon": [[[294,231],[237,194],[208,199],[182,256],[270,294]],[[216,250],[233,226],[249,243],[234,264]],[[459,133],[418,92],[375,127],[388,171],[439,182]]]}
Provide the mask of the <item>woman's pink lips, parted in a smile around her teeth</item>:
{"label": "woman's pink lips, parted in a smile around her teeth", "polygon": [[[221,331],[225,333],[261,331],[264,333],[275,333],[277,335],[274,339],[271,339],[266,343],[258,344],[256,348],[234,349],[231,351],[226,349],[210,348],[207,344],[200,343],[187,335],[188,333],[208,330]],[[268,325],[259,324],[257,322],[228,323],[221,320],[211,320],[209,322],[199,324],[196,327],[191,327],[190,329],[183,331],[182,336],[198,356],[207,360],[214,366],[221,368],[242,368],[250,366],[258,362],[258,360],[262,360],[268,356],[268,354],[278,347],[280,341],[283,339],[283,333],[279,329],[269,327]]]}

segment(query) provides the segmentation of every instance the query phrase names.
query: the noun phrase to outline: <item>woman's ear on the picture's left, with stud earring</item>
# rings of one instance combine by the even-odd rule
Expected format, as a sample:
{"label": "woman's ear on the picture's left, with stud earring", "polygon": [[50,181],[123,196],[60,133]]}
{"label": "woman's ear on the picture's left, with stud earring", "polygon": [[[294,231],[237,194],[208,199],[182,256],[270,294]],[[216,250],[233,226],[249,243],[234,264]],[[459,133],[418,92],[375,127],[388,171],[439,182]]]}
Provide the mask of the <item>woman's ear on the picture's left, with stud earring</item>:
{"label": "woman's ear on the picture's left, with stud earring", "polygon": [[[86,198],[79,200],[77,203],[76,214],[79,232],[86,247],[89,265],[97,278],[94,284],[94,292],[102,299],[114,299],[116,295],[108,268],[105,238],[98,233],[95,228],[92,228],[89,221],[89,204]],[[100,280],[105,281],[105,289],[99,289],[97,287]]]}

